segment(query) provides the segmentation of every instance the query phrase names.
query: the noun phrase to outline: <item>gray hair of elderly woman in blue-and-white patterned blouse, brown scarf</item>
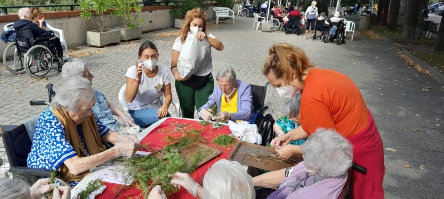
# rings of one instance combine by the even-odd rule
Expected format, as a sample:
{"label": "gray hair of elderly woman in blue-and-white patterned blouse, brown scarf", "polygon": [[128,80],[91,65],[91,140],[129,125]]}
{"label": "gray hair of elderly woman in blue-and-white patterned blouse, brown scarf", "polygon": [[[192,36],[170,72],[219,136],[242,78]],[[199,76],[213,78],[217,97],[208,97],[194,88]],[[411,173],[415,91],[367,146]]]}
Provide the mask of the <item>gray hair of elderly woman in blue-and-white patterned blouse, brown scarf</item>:
{"label": "gray hair of elderly woman in blue-and-white patterned blouse, brown scarf", "polygon": [[85,78],[69,79],[57,89],[51,107],[63,108],[69,112],[77,112],[83,102],[94,105],[96,95],[89,80]]}

